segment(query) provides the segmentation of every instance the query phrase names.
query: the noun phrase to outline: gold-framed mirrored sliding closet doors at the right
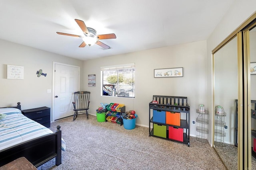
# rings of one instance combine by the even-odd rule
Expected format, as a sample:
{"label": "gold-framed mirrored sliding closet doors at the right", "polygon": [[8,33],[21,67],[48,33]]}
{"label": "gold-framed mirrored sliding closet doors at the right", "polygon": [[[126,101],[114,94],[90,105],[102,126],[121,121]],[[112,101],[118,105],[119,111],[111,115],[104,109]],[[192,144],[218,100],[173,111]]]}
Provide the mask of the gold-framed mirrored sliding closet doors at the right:
{"label": "gold-framed mirrored sliding closet doors at the right", "polygon": [[212,54],[214,149],[227,169],[255,169],[256,13]]}

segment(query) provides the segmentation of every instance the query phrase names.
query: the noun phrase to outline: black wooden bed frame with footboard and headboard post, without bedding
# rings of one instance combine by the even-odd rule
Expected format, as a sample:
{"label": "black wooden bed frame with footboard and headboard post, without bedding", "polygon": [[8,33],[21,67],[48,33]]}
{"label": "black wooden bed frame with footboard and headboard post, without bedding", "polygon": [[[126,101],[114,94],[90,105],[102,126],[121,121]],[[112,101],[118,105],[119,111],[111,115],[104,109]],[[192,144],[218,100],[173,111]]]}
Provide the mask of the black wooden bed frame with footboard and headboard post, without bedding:
{"label": "black wooden bed frame with footboard and headboard post, without bedding", "polygon": [[[17,107],[21,109],[18,102]],[[24,156],[34,166],[56,159],[56,166],[61,164],[61,130],[57,126],[55,133],[44,135],[0,151],[0,166]]]}

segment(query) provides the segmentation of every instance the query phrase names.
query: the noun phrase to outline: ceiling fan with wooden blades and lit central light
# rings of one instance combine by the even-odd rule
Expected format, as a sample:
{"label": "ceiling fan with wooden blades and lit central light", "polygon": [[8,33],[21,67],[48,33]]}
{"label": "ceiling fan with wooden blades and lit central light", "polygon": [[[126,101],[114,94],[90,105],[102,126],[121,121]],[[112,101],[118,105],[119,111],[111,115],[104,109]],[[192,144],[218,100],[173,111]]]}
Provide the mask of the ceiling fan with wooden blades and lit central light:
{"label": "ceiling fan with wooden blades and lit central light", "polygon": [[99,45],[100,47],[103,47],[104,49],[110,49],[111,47],[102,43],[101,41],[98,41],[99,39],[115,39],[116,35],[114,33],[111,34],[102,34],[102,35],[96,35],[96,30],[90,27],[86,27],[84,21],[75,19],[76,23],[79,25],[79,27],[84,32],[84,36],[82,35],[74,35],[74,34],[68,34],[68,33],[60,33],[56,32],[60,35],[68,35],[72,37],[80,37],[83,39],[83,42],[79,47],[85,47],[86,45],[93,45],[94,43]]}

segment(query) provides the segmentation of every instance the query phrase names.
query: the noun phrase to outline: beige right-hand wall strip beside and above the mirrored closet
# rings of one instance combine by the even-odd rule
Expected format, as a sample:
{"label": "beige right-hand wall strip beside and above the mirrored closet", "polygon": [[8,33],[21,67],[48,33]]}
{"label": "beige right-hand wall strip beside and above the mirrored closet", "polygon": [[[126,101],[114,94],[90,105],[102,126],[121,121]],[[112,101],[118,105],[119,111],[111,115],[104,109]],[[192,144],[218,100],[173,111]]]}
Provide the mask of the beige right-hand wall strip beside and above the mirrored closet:
{"label": "beige right-hand wall strip beside and above the mirrored closet", "polygon": [[[211,51],[218,46],[230,33],[255,12],[255,0],[236,0],[220,23],[216,26],[210,37],[207,39],[207,101],[208,109],[212,113],[212,54]],[[209,116],[209,132],[212,132],[212,114]],[[211,133],[212,134],[212,133]],[[212,145],[213,136],[209,136]]]}

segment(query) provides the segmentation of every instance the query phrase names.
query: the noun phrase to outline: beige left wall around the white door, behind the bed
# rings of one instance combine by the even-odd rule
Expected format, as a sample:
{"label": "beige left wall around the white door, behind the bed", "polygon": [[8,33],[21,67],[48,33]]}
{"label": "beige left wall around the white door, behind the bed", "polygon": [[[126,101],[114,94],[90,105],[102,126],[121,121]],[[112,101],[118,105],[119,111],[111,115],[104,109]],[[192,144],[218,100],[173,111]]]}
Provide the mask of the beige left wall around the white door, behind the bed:
{"label": "beige left wall around the white door, behind the bed", "polygon": [[[80,60],[4,40],[0,40],[0,51],[0,107],[16,106],[17,102],[21,102],[22,109],[46,106],[52,110],[52,93],[47,93],[47,89],[52,90],[53,62],[80,66],[80,87],[83,86],[83,65]],[[7,64],[24,66],[24,79],[7,79]],[[37,77],[39,69],[47,76]]]}

